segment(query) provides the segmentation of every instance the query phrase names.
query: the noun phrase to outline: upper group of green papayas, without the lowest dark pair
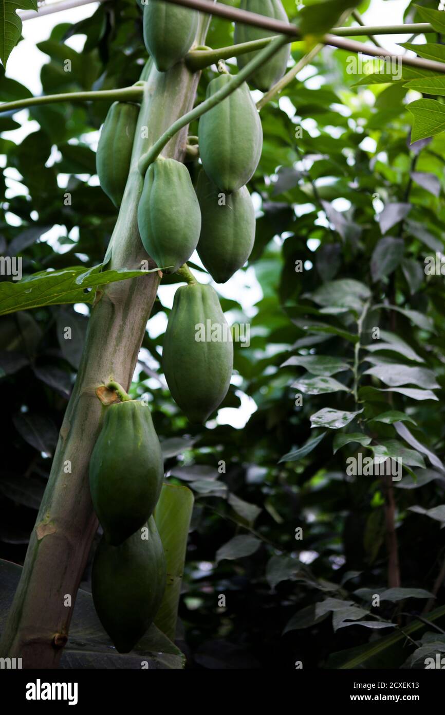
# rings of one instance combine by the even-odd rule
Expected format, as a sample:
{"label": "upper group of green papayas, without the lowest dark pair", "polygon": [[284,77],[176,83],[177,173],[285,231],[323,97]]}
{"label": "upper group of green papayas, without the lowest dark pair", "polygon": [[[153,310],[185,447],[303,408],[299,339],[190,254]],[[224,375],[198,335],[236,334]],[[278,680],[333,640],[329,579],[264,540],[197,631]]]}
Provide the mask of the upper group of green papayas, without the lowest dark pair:
{"label": "upper group of green papayas, without the lowest dark pair", "polygon": [[[166,72],[193,46],[199,12],[148,0],[143,5],[144,42],[156,69]],[[241,0],[241,9],[287,21],[281,0]],[[271,35],[264,29],[235,25],[236,43]],[[266,90],[284,73],[289,46],[279,50],[251,77]],[[242,68],[251,53],[238,57]],[[221,74],[209,82],[206,98],[231,81]],[[104,191],[119,206],[131,164],[138,107],[116,102],[109,110],[97,149],[97,171]],[[159,156],[144,177],[138,207],[138,226],[146,252],[166,273],[176,272],[196,249],[211,277],[224,283],[244,265],[255,239],[255,214],[246,187],[259,163],[262,129],[246,83],[229,94],[199,120],[202,169],[194,188],[181,162]],[[225,340],[195,339],[197,324],[220,325]],[[164,373],[171,394],[193,422],[204,422],[229,389],[233,347],[226,320],[213,287],[196,281],[175,295],[164,340]],[[190,372],[179,379],[181,362]],[[195,377],[194,377],[195,376]]]}

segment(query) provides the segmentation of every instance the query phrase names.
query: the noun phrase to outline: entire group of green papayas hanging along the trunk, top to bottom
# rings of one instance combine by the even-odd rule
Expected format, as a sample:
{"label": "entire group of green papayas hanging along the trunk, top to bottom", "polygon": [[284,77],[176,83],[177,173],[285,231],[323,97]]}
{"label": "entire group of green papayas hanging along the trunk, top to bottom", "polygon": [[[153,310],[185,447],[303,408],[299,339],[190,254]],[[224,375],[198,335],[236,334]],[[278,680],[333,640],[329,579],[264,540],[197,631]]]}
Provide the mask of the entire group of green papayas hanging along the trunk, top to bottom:
{"label": "entire group of green papayas hanging along the trunk, top to bottom", "polygon": [[[241,0],[241,9],[286,19],[281,0]],[[144,42],[158,71],[169,71],[184,58],[198,26],[197,11],[163,0],[144,4]],[[235,41],[267,34],[236,26]],[[249,54],[241,55],[239,67],[249,59]],[[254,86],[269,89],[288,59],[286,47],[256,71]],[[206,97],[230,80],[229,74],[212,79]],[[97,173],[116,207],[124,197],[138,115],[137,104],[115,102],[101,130]],[[249,258],[255,238],[254,206],[246,184],[259,163],[262,129],[247,84],[203,114],[198,131],[203,168],[196,190],[184,164],[158,157],[144,177],[139,233],[146,252],[164,272],[178,271],[196,249],[214,280],[224,283]],[[211,337],[197,339],[198,325],[210,325]],[[203,423],[229,389],[231,333],[214,288],[193,277],[174,297],[163,368],[171,395],[194,423]],[[166,583],[164,551],[152,516],[163,462],[147,406],[124,396],[104,409],[89,471],[94,510],[104,530],[94,558],[92,591],[101,623],[116,649],[125,653],[154,620]]]}

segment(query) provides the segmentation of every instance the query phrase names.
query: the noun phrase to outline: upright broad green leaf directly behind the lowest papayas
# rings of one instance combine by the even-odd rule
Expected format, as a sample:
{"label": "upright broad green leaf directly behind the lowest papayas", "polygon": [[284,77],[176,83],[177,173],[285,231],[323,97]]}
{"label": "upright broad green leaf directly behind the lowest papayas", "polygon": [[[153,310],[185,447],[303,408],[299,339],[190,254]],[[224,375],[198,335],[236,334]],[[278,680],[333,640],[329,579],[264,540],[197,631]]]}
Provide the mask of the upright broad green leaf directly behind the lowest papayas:
{"label": "upright broad green leaf directly behind the lowest papayas", "polygon": [[154,623],[171,641],[176,637],[179,594],[193,503],[193,493],[187,487],[163,484],[154,511],[167,568],[166,588]]}

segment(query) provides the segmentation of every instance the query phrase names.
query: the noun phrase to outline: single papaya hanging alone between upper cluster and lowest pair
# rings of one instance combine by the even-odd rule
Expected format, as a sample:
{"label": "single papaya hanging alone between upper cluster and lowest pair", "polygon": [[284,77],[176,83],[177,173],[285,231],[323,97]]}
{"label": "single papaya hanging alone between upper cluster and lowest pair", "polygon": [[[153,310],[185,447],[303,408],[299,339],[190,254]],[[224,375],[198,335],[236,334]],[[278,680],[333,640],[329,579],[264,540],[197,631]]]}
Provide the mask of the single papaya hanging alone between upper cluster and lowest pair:
{"label": "single papaya hanging alone between upper cluster and lowest pair", "polygon": [[230,328],[211,285],[176,290],[162,363],[176,404],[191,422],[205,422],[224,400],[234,365]]}

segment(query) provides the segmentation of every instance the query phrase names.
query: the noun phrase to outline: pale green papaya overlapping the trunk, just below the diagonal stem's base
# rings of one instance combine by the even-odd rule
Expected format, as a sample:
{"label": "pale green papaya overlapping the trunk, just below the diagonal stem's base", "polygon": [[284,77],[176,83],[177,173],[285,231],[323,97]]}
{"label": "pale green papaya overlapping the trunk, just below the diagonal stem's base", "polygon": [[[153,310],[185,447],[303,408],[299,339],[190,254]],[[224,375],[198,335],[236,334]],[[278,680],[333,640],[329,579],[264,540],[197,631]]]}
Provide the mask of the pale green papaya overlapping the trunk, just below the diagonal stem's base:
{"label": "pale green papaya overlapping the trunk, just below the diagonal stem's base", "polygon": [[166,273],[189,260],[199,240],[201,211],[184,164],[158,157],[150,164],[138,206],[146,252]]}

